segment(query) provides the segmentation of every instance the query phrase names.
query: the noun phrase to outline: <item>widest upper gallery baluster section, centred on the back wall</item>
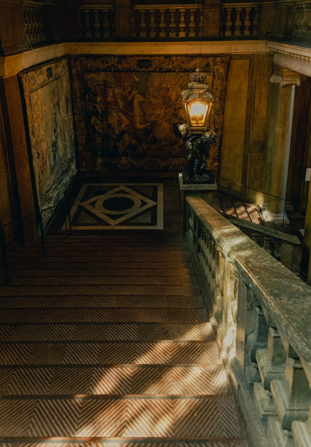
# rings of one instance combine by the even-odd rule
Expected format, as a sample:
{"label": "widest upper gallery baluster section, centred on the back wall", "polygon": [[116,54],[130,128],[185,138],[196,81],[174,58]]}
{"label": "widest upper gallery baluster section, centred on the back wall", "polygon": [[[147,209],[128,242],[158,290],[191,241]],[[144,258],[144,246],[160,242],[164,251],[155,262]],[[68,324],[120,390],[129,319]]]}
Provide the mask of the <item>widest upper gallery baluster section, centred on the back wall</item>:
{"label": "widest upper gallery baluster section, centred on the back wall", "polygon": [[203,35],[203,8],[199,4],[135,5],[133,37],[198,37]]}

